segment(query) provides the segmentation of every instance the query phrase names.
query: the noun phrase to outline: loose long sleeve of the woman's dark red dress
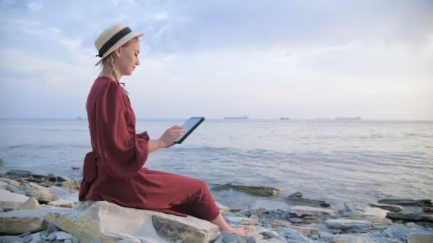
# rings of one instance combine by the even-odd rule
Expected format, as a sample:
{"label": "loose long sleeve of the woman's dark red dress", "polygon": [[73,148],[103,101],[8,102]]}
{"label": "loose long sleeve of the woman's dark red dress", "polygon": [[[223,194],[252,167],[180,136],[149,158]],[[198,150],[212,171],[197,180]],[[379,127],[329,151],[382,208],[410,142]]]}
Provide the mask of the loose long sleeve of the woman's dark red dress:
{"label": "loose long sleeve of the woman's dark red dress", "polygon": [[112,178],[130,178],[140,171],[148,155],[147,132],[135,134],[135,117],[127,114],[122,88],[110,82],[95,102],[98,164]]}

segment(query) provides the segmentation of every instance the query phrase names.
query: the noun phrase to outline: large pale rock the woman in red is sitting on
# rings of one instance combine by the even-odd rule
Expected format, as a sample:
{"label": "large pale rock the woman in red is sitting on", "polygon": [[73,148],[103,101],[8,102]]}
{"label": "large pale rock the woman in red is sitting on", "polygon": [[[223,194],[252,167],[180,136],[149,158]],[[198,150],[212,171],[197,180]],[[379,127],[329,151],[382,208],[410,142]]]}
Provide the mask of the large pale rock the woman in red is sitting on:
{"label": "large pale rock the woman in red is sitting on", "polygon": [[149,242],[209,242],[216,239],[216,225],[195,217],[120,207],[110,202],[84,202],[74,214],[49,213],[46,220],[84,241],[142,239]]}

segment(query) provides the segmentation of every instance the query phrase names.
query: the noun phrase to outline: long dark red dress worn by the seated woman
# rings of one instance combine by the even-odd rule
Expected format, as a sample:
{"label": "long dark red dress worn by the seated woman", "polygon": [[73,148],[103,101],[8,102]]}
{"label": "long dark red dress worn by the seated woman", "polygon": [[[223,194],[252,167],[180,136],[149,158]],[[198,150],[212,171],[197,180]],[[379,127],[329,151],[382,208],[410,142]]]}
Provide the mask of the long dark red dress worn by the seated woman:
{"label": "long dark red dress worn by the seated woman", "polygon": [[143,168],[149,136],[135,133],[135,114],[117,82],[98,77],[86,109],[93,151],[84,159],[80,201],[105,200],[208,221],[219,215],[202,180]]}

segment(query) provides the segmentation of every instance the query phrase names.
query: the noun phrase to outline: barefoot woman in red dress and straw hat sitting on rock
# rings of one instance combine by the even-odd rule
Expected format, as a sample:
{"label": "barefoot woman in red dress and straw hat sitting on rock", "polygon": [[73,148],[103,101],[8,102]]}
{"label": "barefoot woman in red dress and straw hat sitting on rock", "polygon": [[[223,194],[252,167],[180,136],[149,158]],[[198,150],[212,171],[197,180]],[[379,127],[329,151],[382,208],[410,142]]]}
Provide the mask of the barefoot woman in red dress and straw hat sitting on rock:
{"label": "barefoot woman in red dress and straw hat sitting on rock", "polygon": [[182,126],[172,126],[160,139],[151,140],[146,131],[135,131],[135,114],[120,79],[140,65],[138,38],[143,35],[119,23],[95,41],[101,58],[96,65],[101,64],[102,71],[86,103],[93,151],[84,159],[80,201],[105,200],[123,207],[192,215],[221,231],[246,234],[246,228],[227,225],[202,180],[143,168],[149,153],[172,146],[184,134]]}

